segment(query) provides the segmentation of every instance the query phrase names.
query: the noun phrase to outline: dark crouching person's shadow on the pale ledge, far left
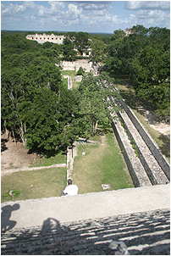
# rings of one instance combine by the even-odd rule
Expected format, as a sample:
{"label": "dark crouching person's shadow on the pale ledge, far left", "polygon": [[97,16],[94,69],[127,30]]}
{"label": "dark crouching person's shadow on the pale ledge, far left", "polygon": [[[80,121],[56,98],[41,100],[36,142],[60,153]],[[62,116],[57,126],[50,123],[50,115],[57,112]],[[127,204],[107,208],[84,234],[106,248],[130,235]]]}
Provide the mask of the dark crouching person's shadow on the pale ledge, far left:
{"label": "dark crouching person's shadow on the pale ledge, far left", "polygon": [[19,203],[14,203],[13,206],[6,205],[2,208],[3,212],[1,213],[1,231],[5,233],[14,228],[17,224],[15,220],[9,220],[11,218],[12,211],[16,211],[20,208]]}

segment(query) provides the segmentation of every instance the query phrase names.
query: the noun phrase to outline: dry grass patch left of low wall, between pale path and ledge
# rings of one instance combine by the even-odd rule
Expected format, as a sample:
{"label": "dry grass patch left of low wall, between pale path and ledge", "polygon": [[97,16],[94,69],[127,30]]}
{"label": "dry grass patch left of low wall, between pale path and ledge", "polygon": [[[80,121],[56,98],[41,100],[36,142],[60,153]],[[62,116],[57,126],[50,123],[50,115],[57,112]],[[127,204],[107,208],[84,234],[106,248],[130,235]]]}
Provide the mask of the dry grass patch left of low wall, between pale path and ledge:
{"label": "dry grass patch left of low wall, between pale path and ledge", "polygon": [[9,191],[16,191],[16,200],[59,197],[66,186],[66,169],[51,168],[42,170],[19,171],[1,178],[2,203],[11,201]]}

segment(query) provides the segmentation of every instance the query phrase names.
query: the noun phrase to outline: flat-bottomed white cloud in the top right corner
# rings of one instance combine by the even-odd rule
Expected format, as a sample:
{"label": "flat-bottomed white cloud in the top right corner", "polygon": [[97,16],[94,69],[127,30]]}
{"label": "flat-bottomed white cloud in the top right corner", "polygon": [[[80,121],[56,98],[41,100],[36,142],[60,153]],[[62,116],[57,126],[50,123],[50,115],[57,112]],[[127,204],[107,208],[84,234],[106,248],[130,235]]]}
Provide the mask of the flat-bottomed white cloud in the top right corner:
{"label": "flat-bottomed white cloud in the top right corner", "polygon": [[169,10],[170,2],[169,1],[128,1],[125,3],[124,8],[130,9],[130,10],[137,10],[137,9]]}

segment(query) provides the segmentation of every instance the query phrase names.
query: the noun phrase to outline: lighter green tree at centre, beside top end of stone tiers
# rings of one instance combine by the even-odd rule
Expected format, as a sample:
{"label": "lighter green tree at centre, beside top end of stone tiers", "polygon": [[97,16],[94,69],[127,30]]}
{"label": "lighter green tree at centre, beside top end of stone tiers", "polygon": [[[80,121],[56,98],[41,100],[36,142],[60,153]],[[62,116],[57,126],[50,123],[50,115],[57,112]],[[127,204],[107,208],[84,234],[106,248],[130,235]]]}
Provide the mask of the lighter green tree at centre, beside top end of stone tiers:
{"label": "lighter green tree at centre, beside top end of stone tiers", "polygon": [[[78,98],[78,113],[80,118],[76,120],[77,125],[81,127],[81,136],[90,136],[97,133],[98,125],[105,129],[107,120],[109,119],[109,106],[114,103],[108,101],[108,97],[119,97],[113,86],[110,86],[110,79],[107,75],[94,77],[93,75],[85,75],[80,83]],[[112,111],[112,110],[111,110]]]}

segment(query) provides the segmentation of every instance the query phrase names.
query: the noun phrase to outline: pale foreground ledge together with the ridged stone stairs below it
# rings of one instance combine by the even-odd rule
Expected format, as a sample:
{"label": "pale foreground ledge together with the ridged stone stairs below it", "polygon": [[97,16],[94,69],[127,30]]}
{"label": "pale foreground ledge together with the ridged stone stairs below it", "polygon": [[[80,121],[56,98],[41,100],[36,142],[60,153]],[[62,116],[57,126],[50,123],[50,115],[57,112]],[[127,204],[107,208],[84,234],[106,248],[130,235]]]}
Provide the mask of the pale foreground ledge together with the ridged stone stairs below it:
{"label": "pale foreground ledge together with the ridged stone stairs below it", "polygon": [[[170,255],[169,184],[2,203],[2,255]],[[10,219],[10,220],[9,220]]]}

